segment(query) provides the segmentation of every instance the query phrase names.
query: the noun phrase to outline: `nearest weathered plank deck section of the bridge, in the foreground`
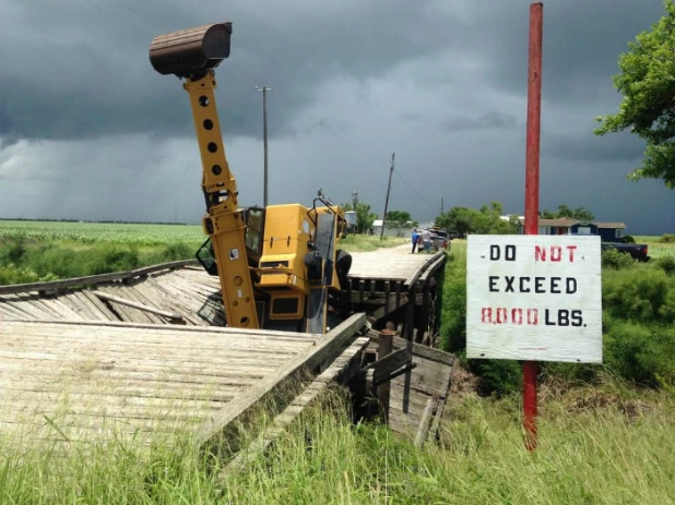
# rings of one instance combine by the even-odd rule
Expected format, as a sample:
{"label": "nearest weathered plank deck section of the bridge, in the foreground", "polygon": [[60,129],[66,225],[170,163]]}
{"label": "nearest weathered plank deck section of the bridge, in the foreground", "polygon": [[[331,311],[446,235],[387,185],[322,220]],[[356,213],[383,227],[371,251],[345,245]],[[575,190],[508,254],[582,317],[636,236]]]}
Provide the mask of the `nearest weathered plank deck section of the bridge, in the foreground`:
{"label": "nearest weathered plank deck section of the bridge, in the foreground", "polygon": [[[321,336],[4,321],[0,435],[143,440],[151,433],[189,431],[206,442],[299,368],[334,361],[358,339],[353,335],[364,321],[363,314],[354,316]],[[359,345],[364,348],[367,339]]]}

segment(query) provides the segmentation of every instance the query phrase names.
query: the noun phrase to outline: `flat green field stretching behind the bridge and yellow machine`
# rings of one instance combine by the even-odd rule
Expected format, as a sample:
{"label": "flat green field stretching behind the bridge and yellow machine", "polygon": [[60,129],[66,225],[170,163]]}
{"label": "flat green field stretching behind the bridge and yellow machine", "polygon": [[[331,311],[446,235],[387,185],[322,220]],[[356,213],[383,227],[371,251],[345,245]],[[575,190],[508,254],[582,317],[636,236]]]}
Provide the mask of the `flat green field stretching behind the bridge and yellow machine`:
{"label": "flat green field stretching behind the bridge and yellow machine", "polygon": [[[200,225],[0,220],[0,285],[82,277],[191,260],[206,240]],[[348,252],[407,239],[350,236]]]}

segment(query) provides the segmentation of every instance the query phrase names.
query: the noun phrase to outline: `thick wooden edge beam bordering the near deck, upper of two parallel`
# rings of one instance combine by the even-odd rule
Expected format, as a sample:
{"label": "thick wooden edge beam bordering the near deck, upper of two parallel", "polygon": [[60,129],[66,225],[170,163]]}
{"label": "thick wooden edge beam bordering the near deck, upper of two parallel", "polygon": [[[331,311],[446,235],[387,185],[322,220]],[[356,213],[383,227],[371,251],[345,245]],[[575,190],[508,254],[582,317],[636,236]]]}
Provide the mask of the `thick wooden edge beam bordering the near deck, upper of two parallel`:
{"label": "thick wooden edge beam bordering the near deck, upper of two parallel", "polygon": [[241,392],[197,430],[197,444],[202,446],[217,435],[227,435],[230,424],[244,419],[258,401],[271,397],[274,390],[283,387],[286,381],[298,376],[304,369],[313,370],[325,361],[334,360],[341,349],[344,349],[365,324],[366,314],[352,315],[323,335],[315,346],[280,366],[273,374],[260,381],[253,387]]}

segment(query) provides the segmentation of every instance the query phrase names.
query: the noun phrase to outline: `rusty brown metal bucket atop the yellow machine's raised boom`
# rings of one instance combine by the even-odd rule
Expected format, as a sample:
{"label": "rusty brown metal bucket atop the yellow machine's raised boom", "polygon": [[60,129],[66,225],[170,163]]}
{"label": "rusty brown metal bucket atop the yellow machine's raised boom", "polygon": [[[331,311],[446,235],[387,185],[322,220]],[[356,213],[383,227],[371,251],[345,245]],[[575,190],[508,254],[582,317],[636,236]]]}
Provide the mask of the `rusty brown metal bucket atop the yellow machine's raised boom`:
{"label": "rusty brown metal bucket atop the yellow machine's raised boom", "polygon": [[232,23],[214,23],[157,35],[150,62],[163,75],[199,79],[229,57]]}

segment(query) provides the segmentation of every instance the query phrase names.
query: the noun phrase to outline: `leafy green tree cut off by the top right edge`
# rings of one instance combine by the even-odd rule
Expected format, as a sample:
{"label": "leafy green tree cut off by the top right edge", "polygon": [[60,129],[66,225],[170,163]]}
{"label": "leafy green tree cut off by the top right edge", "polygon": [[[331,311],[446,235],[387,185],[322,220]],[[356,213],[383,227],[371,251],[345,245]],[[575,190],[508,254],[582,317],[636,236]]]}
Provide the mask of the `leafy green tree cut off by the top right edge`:
{"label": "leafy green tree cut off by the top right edge", "polygon": [[621,132],[647,141],[642,166],[628,175],[631,180],[662,179],[675,188],[675,4],[664,1],[665,14],[651,29],[628,43],[619,56],[620,72],[614,86],[624,95],[618,112],[599,116],[596,135]]}

